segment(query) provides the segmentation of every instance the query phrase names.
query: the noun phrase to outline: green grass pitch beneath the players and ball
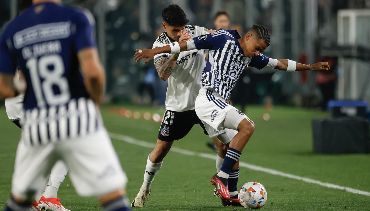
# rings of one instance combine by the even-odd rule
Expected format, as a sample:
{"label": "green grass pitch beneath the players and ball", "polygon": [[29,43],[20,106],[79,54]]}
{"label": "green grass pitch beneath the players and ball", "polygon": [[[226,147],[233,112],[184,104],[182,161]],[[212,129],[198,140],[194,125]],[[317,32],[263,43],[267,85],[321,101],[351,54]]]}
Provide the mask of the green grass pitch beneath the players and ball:
{"label": "green grass pitch beneath the players and ball", "polygon": [[[132,111],[148,111],[163,114],[163,108],[137,107],[133,105],[105,105],[101,108],[108,131],[155,143],[159,123],[135,120],[110,114],[110,108],[125,107]],[[262,115],[270,114],[264,121]],[[263,107],[250,106],[246,112],[256,124],[256,130],[246,145],[241,161],[261,167],[279,170],[297,176],[309,177],[340,186],[370,191],[370,155],[319,155],[312,152],[312,118],[327,117],[327,113],[300,108],[275,107],[266,111]],[[20,129],[7,122],[4,107],[0,107],[0,210],[5,206],[10,193],[11,174]],[[170,131],[171,132],[171,131]],[[191,132],[174,146],[195,152],[214,154],[205,143],[211,141],[195,125]],[[136,196],[151,148],[144,148],[117,139],[113,145],[127,173],[127,192],[130,201]],[[152,184],[150,200],[144,208],[132,210],[243,210],[237,207],[222,207],[213,196],[209,182],[216,173],[215,161],[196,156],[169,152]],[[268,191],[268,201],[262,210],[370,210],[370,197],[347,191],[327,188],[299,180],[268,173],[240,169],[238,187],[248,181],[262,183]],[[101,210],[93,197],[77,195],[67,178],[60,186],[58,197],[72,211]]]}

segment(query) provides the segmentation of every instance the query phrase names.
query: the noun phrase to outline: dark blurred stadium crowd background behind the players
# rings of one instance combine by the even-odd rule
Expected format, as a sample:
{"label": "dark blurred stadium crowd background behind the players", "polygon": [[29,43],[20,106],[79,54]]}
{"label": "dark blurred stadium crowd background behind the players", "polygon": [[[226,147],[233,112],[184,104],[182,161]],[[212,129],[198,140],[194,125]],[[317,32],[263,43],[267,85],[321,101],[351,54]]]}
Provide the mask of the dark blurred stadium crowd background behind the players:
{"label": "dark blurred stadium crowd background behind the players", "polygon": [[[17,15],[16,0],[0,2],[0,26]],[[262,24],[271,35],[264,54],[301,63],[327,61],[328,72],[246,68],[233,91],[235,104],[287,104],[326,109],[331,99],[370,101],[370,0],[64,0],[88,8],[107,71],[107,101],[163,105],[166,81],[154,63],[135,63],[164,32],[162,9],[179,4],[189,24],[236,29]]]}

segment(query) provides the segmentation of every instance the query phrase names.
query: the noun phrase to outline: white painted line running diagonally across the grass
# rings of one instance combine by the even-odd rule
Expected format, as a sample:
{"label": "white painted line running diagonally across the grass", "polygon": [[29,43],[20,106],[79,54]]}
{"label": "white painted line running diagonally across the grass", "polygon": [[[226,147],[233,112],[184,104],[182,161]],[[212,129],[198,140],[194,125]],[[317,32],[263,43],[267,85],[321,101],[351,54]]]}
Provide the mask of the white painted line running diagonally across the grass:
{"label": "white painted line running diagonally across the grass", "polygon": [[[124,142],[127,142],[127,143],[132,143],[132,144],[139,145],[139,146],[144,146],[144,147],[147,147],[147,148],[154,149],[154,146],[155,146],[154,143],[149,143],[149,142],[146,142],[146,141],[140,141],[140,140],[137,140],[135,138],[132,138],[132,137],[126,136],[126,135],[120,135],[120,134],[114,134],[114,133],[109,133],[109,135],[112,139],[121,140],[121,141],[124,141]],[[202,158],[209,158],[209,159],[212,159],[212,160],[216,160],[216,155],[212,155],[212,154],[208,154],[208,153],[193,152],[193,151],[189,151],[189,150],[186,150],[186,149],[180,149],[180,148],[177,148],[177,147],[174,147],[174,146],[171,147],[171,151],[181,153],[181,154],[184,154],[184,155],[199,156],[199,157],[202,157]],[[350,187],[339,186],[339,185],[331,184],[331,183],[324,183],[324,182],[321,182],[321,181],[318,181],[318,180],[313,180],[313,179],[310,179],[310,178],[307,178],[307,177],[300,177],[300,176],[296,176],[296,175],[293,175],[293,174],[280,172],[280,171],[277,171],[277,170],[274,170],[274,169],[263,168],[263,167],[260,167],[260,166],[252,165],[252,164],[241,162],[241,161],[239,162],[239,166],[246,167],[247,169],[252,169],[252,170],[255,170],[255,171],[259,171],[259,172],[265,172],[265,173],[268,173],[268,174],[287,177],[287,178],[290,178],[290,179],[305,181],[306,183],[318,184],[318,185],[324,186],[324,187],[335,188],[335,189],[339,189],[339,190],[345,190],[345,191],[350,192],[350,193],[356,193],[356,194],[361,194],[361,195],[365,195],[365,196],[370,196],[370,192],[357,190],[357,189],[350,188]]]}

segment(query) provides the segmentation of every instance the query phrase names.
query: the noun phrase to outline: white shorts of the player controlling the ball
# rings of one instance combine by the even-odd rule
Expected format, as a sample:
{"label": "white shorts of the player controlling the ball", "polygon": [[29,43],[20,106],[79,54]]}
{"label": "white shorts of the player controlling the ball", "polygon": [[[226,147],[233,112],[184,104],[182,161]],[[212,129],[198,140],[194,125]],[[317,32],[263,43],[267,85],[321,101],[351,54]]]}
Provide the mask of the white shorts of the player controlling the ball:
{"label": "white shorts of the player controlling the ball", "polygon": [[[199,90],[196,97],[195,112],[211,138],[224,134],[228,129],[237,130],[240,121],[248,118],[241,111],[226,103],[218,93],[205,88]],[[226,114],[229,118],[225,127]]]}

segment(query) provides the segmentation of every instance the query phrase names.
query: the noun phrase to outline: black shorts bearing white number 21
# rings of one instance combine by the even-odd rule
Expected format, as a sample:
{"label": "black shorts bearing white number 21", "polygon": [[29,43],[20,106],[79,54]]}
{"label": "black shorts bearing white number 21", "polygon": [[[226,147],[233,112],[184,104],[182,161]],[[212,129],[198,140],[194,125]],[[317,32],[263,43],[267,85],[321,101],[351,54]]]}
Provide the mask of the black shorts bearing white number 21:
{"label": "black shorts bearing white number 21", "polygon": [[166,110],[159,129],[158,139],[161,141],[175,141],[184,138],[195,124],[201,125],[204,134],[208,135],[195,110],[181,112]]}

